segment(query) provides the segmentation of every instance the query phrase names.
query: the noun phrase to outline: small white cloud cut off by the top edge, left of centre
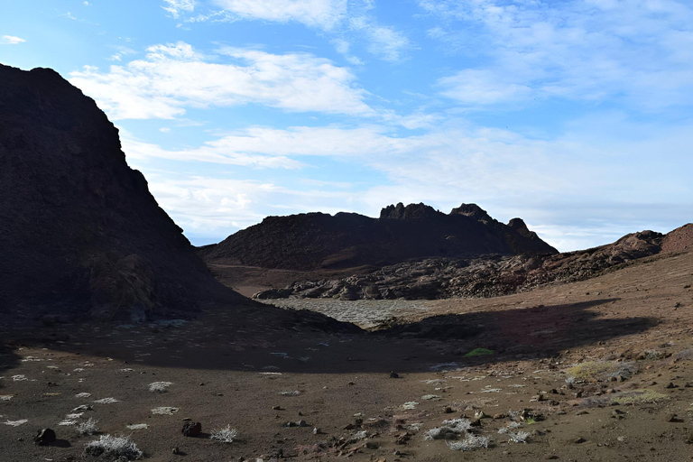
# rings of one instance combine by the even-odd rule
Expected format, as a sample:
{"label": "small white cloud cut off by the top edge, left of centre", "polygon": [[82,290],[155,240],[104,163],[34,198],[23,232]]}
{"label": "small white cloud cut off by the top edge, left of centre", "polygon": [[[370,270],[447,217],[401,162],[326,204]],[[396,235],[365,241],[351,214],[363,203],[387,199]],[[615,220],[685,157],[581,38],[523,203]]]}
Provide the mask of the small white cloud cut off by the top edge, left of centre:
{"label": "small white cloud cut off by the top edge, left of centre", "polygon": [[326,31],[347,14],[347,0],[215,0],[215,3],[243,19],[296,21]]}

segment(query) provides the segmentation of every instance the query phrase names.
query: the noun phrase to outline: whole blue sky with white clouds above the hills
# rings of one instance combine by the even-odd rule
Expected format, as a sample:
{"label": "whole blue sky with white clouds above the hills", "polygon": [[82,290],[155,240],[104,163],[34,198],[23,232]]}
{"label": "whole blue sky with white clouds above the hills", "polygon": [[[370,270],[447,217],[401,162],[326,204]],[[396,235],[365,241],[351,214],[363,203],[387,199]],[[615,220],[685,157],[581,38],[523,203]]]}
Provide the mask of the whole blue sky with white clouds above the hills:
{"label": "whole blue sky with white clouds above the hills", "polygon": [[0,0],[0,62],[93,97],[194,245],[397,202],[561,251],[693,221],[689,0]]}

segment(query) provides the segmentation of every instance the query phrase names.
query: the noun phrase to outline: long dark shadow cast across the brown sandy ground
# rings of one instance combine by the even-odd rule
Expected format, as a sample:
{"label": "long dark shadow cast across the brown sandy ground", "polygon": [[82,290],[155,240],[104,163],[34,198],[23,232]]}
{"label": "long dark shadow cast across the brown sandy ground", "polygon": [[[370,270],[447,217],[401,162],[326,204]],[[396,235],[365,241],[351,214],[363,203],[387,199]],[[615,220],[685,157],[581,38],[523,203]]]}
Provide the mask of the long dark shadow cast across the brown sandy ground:
{"label": "long dark shadow cast across the brown sandy ground", "polygon": [[[306,316],[293,311],[277,321],[274,309],[208,307],[198,319],[178,327],[85,323],[20,329],[5,342],[3,363],[18,364],[18,356],[8,353],[8,348],[31,346],[172,368],[248,371],[274,367],[308,374],[417,372],[444,362],[477,365],[550,357],[657,325],[657,319],[605,319],[590,310],[615,300],[448,314],[371,333],[325,321],[315,313]],[[465,356],[477,347],[495,353]]]}

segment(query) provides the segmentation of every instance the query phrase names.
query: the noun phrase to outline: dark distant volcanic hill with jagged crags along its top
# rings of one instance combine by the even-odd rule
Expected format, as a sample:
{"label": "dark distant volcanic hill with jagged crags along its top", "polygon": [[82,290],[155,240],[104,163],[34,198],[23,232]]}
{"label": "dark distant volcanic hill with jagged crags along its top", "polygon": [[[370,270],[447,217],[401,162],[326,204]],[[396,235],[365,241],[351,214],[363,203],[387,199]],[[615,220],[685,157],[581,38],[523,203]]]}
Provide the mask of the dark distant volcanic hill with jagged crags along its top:
{"label": "dark distant volcanic hill with jagged crags along its top", "polygon": [[383,208],[379,218],[355,213],[267,217],[200,249],[207,263],[314,270],[383,266],[411,258],[480,254],[555,254],[520,218],[507,225],[475,204],[449,214],[423,204]]}

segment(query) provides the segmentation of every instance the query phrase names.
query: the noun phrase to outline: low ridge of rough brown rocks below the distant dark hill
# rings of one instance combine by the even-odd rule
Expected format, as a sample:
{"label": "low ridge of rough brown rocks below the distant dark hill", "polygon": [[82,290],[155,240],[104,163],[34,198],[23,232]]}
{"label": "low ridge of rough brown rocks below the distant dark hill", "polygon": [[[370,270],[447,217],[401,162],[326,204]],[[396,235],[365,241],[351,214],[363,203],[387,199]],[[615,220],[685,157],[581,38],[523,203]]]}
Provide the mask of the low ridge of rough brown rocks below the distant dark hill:
{"label": "low ridge of rough brown rocks below the distant dark hill", "polygon": [[693,225],[668,235],[643,231],[610,245],[565,254],[492,255],[473,259],[426,258],[337,279],[291,282],[254,294],[257,299],[420,300],[495,297],[549,283],[576,282],[661,252],[693,246]]}

